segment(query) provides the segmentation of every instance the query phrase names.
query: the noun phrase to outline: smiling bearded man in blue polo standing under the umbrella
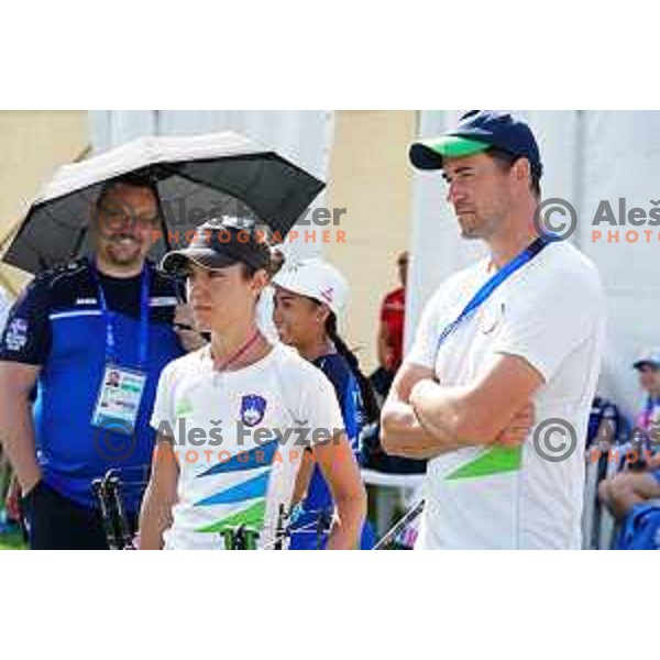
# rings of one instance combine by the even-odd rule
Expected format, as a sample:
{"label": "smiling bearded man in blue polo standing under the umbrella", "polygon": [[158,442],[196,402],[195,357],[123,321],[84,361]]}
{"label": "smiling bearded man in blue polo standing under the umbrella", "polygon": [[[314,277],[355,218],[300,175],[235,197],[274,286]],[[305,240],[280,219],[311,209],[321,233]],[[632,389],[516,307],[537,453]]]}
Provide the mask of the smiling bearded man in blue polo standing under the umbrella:
{"label": "smiling bearded man in blue polo standing under the umbrella", "polygon": [[[158,223],[153,184],[106,184],[92,253],[37,275],[0,341],[0,440],[23,494],[33,549],[105,549],[91,484],[110,469],[138,482],[162,369],[190,341],[175,282],[146,260]],[[36,398],[32,405],[32,393]],[[125,490],[134,519],[142,487]]]}

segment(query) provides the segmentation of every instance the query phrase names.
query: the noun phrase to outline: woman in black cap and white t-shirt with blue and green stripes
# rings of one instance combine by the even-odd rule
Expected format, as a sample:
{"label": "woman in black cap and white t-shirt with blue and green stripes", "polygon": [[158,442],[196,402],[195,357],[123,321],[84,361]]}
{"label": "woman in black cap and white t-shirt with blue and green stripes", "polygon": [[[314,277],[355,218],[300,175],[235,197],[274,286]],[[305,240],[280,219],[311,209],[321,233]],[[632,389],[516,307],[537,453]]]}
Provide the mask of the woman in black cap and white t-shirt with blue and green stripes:
{"label": "woman in black cap and white t-shirt with blue and green stripes", "polygon": [[309,440],[337,505],[328,548],[358,544],[366,498],[332,386],[257,329],[267,266],[260,232],[235,219],[207,222],[163,260],[164,270],[186,275],[197,327],[211,343],[162,373],[142,548],[280,546]]}

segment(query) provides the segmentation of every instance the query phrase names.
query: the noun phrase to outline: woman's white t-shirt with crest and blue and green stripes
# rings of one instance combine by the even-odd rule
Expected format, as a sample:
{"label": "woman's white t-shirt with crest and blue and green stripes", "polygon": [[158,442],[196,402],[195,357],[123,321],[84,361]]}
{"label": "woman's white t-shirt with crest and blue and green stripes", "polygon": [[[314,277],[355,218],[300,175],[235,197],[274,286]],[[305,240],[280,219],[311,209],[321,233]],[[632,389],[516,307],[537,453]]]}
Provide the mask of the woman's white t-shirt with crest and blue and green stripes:
{"label": "woman's white t-shirt with crest and blue and green stripes", "polygon": [[179,465],[166,549],[221,549],[222,530],[241,524],[272,547],[304,443],[343,430],[330,381],[284,344],[235,372],[216,372],[208,348],[170,362],[151,424],[172,429]]}

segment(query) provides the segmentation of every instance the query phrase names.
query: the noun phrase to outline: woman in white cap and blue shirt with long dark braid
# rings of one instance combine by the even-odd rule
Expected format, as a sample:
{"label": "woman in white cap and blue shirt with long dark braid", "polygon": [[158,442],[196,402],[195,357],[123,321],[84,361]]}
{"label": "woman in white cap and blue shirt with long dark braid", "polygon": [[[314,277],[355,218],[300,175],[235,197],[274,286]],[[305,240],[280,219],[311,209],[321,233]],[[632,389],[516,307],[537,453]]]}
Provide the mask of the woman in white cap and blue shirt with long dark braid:
{"label": "woman in white cap and blue shirt with long dark braid", "polygon": [[[320,258],[306,258],[285,264],[273,278],[273,319],[279,339],[318,366],[334,386],[344,428],[359,460],[360,431],[365,418],[367,421],[377,419],[378,409],[358,359],[337,332],[337,320],[349,294],[348,283],[330,264]],[[293,524],[290,548],[322,547],[322,519],[329,517],[333,503],[311,450],[305,452],[294,499],[300,506]],[[317,532],[310,534],[310,528],[317,528]],[[370,546],[369,536],[367,528],[363,534],[363,548]]]}

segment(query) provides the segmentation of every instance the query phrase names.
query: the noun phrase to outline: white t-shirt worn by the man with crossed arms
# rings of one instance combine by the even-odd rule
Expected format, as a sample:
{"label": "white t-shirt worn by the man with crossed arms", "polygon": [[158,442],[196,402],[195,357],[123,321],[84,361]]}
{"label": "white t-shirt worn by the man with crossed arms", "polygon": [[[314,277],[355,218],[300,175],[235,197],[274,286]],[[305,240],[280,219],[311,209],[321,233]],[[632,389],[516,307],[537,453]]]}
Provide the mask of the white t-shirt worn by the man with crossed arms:
{"label": "white t-shirt worn by the man with crossed arms", "polygon": [[[416,548],[578,549],[584,439],[604,339],[601,279],[572,245],[552,243],[502,284],[437,354],[439,334],[492,275],[483,261],[441,285],[406,362],[433,369],[441,384],[458,386],[474,382],[498,354],[521,356],[544,381],[534,397],[537,426],[566,420],[578,446],[561,462],[544,460],[532,443],[535,427],[519,449],[468,447],[429,461]],[[549,442],[557,447],[561,440]]]}

